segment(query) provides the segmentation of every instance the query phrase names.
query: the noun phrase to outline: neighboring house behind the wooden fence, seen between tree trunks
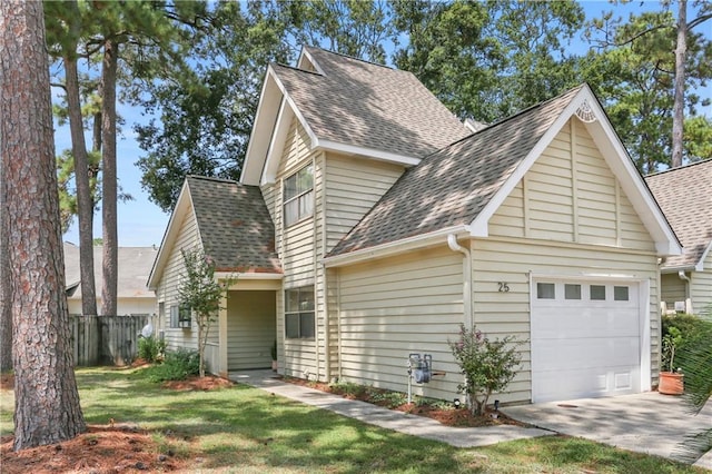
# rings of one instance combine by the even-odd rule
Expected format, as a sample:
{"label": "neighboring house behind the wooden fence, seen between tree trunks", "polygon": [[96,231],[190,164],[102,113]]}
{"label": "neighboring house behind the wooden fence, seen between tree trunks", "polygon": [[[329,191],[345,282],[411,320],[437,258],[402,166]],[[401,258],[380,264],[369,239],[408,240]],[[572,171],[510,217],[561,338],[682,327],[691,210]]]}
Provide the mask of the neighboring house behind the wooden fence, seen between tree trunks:
{"label": "neighboring house behind the wooden fence, seen between tree trunks", "polygon": [[[101,246],[93,247],[93,277],[97,312],[101,312]],[[146,279],[158,255],[155,247],[119,247],[117,280],[117,313],[119,315],[151,315],[156,313],[156,295],[146,287]],[[69,314],[81,314],[81,282],[79,247],[65,243],[65,274]]]}

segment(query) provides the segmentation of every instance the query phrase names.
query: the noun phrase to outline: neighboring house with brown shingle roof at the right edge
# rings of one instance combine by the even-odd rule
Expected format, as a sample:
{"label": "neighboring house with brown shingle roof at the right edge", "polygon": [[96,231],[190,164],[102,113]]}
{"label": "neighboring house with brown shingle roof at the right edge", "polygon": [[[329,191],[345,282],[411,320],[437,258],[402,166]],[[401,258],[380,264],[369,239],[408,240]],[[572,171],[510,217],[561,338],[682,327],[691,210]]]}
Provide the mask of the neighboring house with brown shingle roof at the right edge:
{"label": "neighboring house with brown shingle roof at the right edge", "polygon": [[712,159],[645,178],[684,247],[661,265],[670,310],[700,314],[712,305]]}

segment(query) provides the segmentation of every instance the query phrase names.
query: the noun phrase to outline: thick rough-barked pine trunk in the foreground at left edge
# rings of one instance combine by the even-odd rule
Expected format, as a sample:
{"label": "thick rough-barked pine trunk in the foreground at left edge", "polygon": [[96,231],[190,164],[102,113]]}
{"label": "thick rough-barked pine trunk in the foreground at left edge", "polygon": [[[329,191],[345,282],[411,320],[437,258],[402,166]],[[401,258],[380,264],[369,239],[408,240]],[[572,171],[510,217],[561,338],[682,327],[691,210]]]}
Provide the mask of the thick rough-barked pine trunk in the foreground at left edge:
{"label": "thick rough-barked pine trunk in the foreground at left edge", "polygon": [[72,367],[42,3],[0,1],[14,450],[86,431]]}

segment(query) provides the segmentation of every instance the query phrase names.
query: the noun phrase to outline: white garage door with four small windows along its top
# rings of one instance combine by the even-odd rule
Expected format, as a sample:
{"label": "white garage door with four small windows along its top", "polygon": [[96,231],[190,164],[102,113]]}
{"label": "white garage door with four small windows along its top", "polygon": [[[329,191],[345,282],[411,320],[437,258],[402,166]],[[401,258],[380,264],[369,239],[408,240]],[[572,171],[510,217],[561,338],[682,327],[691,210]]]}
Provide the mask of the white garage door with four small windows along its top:
{"label": "white garage door with four small windows along its top", "polygon": [[536,279],[532,401],[641,391],[641,312],[634,283]]}

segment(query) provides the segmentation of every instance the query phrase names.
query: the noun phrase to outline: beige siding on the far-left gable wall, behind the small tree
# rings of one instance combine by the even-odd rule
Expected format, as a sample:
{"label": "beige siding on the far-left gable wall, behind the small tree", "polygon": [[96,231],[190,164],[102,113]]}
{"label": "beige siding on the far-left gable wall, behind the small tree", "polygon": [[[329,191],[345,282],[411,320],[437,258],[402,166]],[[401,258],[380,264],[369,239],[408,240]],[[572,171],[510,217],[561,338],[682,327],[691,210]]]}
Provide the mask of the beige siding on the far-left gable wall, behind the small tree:
{"label": "beige siding on the far-left gable wall, behind the small tree", "polygon": [[[198,227],[191,208],[184,217],[178,237],[172,246],[170,256],[168,257],[168,263],[164,268],[164,275],[156,290],[158,302],[164,303],[166,308],[166,315],[160,327],[165,330],[166,343],[169,349],[177,349],[179,347],[189,349],[198,348],[198,328],[195,325],[195,322],[191,329],[170,327],[170,307],[178,306],[179,304],[178,287],[180,286],[180,280],[184,275],[184,263],[180,250],[188,250],[192,248],[200,248],[200,240],[198,238]],[[217,336],[212,335],[211,340],[217,342]]]}

